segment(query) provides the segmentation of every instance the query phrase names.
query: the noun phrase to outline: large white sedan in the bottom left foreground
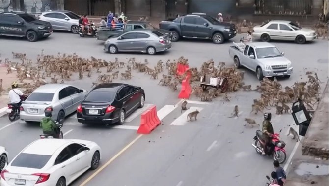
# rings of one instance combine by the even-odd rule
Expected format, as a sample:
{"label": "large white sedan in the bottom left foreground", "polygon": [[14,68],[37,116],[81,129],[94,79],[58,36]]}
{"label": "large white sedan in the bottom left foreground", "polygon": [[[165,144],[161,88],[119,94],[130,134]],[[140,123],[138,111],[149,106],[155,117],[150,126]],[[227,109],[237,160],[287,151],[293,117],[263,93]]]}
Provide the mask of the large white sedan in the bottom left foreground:
{"label": "large white sedan in the bottom left foreground", "polygon": [[97,169],[101,148],[92,141],[38,139],[1,173],[1,186],[67,186],[88,169]]}

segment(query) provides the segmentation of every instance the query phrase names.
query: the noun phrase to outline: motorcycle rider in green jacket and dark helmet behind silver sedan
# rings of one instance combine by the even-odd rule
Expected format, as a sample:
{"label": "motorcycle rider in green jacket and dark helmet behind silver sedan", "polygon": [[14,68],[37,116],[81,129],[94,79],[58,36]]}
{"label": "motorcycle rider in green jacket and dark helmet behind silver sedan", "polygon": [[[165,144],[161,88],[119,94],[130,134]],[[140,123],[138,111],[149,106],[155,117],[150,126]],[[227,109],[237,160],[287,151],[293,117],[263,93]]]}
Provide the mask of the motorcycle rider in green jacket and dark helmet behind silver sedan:
{"label": "motorcycle rider in green jacket and dark helmet behind silver sedan", "polygon": [[58,126],[55,121],[52,120],[52,111],[45,110],[45,117],[40,122],[44,134],[50,134],[54,138],[58,138]]}

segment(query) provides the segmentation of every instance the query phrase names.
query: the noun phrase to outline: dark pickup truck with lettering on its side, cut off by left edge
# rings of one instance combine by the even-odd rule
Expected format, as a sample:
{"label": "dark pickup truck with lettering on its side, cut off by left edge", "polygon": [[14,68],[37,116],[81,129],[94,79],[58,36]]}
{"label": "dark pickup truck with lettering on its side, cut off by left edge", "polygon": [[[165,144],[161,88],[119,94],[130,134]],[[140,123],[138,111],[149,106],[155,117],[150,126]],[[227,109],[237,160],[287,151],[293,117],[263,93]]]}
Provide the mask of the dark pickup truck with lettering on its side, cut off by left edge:
{"label": "dark pickup truck with lettering on its side, cut off by left edge", "polygon": [[49,22],[37,20],[27,13],[0,13],[0,36],[27,37],[28,41],[34,42],[52,33]]}

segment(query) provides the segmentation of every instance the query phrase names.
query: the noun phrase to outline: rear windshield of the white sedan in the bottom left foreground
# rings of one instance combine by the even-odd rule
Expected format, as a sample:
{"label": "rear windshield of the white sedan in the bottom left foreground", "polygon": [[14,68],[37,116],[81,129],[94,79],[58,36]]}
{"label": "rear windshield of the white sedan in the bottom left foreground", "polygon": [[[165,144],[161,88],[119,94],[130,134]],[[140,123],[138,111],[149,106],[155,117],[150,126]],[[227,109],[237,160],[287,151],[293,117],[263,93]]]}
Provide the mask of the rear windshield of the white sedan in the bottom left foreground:
{"label": "rear windshield of the white sedan in the bottom left foreground", "polygon": [[35,155],[21,153],[13,160],[11,166],[41,169],[47,164],[51,157],[51,155]]}

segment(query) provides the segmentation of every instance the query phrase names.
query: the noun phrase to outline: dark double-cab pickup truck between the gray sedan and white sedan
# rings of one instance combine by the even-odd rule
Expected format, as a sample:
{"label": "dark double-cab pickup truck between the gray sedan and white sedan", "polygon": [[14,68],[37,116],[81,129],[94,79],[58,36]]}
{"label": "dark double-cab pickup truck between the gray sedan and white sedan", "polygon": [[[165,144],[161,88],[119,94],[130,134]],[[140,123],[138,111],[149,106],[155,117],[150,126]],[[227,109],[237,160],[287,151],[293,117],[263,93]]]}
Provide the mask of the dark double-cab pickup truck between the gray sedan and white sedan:
{"label": "dark double-cab pickup truck between the gray sedan and white sedan", "polygon": [[171,41],[178,41],[181,37],[185,37],[211,39],[215,44],[221,44],[237,34],[234,24],[220,23],[204,13],[192,13],[173,21],[161,21],[159,28],[171,31]]}

